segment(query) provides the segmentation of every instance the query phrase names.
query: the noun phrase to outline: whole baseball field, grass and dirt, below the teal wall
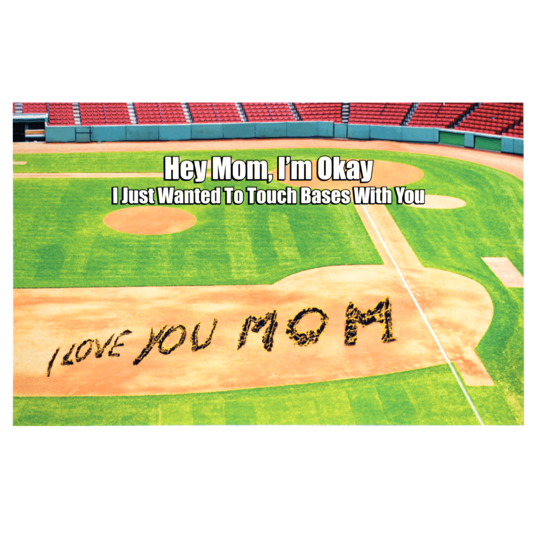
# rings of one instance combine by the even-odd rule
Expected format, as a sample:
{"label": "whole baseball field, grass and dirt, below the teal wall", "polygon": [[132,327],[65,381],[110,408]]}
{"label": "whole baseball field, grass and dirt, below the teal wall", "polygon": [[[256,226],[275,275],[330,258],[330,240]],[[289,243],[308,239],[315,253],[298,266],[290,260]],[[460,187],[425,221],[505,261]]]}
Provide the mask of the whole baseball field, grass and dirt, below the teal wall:
{"label": "whole baseball field, grass and dirt, below the teal wall", "polygon": [[[112,205],[169,185],[166,155],[266,160],[284,190],[279,155],[373,160],[366,185],[428,206]],[[16,143],[13,161],[14,425],[524,424],[524,290],[483,260],[523,275],[522,157],[274,139]],[[349,303],[386,299],[388,342],[377,320],[344,343]]]}

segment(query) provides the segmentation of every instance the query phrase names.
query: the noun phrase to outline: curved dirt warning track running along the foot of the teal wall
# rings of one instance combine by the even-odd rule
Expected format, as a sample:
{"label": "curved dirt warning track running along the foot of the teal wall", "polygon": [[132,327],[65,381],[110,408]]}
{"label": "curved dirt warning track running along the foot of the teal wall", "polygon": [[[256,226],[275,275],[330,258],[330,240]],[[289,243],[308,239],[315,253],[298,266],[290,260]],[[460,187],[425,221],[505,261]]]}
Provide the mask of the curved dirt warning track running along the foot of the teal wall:
{"label": "curved dirt warning track running along the foot of the teal wall", "polygon": [[117,143],[13,143],[13,154],[69,152],[145,152],[155,150],[242,150],[246,148],[360,148],[411,152],[455,158],[493,167],[520,180],[524,179],[524,158],[458,146],[400,143],[396,141],[356,141],[351,139],[219,139],[213,141],[122,141]]}

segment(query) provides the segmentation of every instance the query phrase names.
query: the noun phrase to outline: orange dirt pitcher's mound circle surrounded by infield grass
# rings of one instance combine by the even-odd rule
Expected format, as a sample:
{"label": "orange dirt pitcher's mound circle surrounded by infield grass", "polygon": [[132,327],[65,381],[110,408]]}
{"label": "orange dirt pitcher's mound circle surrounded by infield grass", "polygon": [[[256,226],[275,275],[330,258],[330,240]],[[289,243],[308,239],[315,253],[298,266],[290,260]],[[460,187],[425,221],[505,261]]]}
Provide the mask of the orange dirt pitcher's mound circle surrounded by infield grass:
{"label": "orange dirt pitcher's mound circle surrounded by infield grass", "polygon": [[164,206],[117,209],[104,217],[104,224],[113,230],[140,235],[182,232],[196,222],[197,218],[187,211]]}

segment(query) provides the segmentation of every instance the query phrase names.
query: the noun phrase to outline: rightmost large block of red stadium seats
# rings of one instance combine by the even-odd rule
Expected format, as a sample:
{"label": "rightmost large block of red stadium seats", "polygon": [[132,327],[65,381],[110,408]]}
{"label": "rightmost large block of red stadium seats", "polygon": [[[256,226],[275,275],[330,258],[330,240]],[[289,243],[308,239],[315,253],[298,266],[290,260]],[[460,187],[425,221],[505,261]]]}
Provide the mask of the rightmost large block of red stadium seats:
{"label": "rightmost large block of red stadium seats", "polygon": [[483,102],[456,128],[493,135],[508,134],[512,130],[523,137],[523,128],[515,130],[523,123],[523,107],[523,102]]}

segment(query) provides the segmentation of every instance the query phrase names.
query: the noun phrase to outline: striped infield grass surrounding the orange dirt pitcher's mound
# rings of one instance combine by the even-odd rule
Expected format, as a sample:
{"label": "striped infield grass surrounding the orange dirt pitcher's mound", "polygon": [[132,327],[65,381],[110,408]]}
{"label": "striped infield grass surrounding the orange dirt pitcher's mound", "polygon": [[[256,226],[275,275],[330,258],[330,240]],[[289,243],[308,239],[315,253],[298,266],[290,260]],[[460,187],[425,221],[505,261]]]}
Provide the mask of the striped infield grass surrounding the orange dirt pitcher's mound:
{"label": "striped infield grass surrounding the orange dirt pitcher's mound", "polygon": [[[209,178],[183,184],[229,185]],[[219,206],[175,206],[197,218],[185,232],[132,235],[103,222],[121,208],[111,205],[111,188],[122,185],[176,184],[161,178],[14,178],[14,287],[273,284],[321,266],[382,263],[352,205],[265,209],[248,206],[245,193],[242,205],[227,206],[223,196]]]}

